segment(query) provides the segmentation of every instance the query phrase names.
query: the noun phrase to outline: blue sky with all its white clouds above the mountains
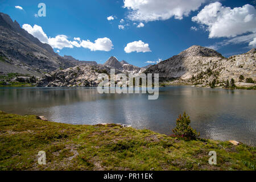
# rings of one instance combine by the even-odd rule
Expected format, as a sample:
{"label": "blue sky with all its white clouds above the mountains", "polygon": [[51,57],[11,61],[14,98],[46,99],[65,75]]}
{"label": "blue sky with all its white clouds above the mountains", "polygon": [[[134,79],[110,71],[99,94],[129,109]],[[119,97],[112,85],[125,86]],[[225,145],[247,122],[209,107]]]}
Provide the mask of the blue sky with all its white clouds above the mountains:
{"label": "blue sky with all its white clouds above the mountains", "polygon": [[246,0],[0,0],[0,12],[61,56],[100,64],[115,56],[138,67],[193,45],[225,57],[249,51],[256,47],[255,6]]}

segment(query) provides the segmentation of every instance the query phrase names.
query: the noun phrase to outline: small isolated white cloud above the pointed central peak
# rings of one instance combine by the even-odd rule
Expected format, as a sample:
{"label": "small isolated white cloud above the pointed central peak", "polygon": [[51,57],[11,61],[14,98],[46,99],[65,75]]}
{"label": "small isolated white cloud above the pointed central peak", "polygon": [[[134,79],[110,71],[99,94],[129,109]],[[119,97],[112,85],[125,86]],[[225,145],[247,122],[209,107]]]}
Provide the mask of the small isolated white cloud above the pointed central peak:
{"label": "small isolated white cloud above the pointed central peak", "polygon": [[145,44],[141,40],[128,43],[125,47],[126,53],[131,52],[151,52],[148,44]]}

